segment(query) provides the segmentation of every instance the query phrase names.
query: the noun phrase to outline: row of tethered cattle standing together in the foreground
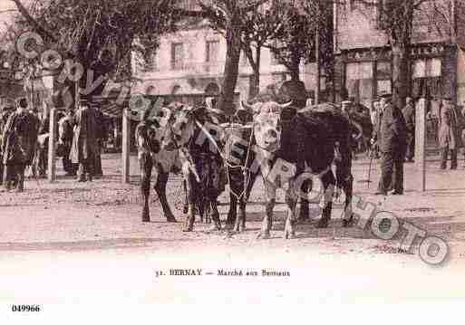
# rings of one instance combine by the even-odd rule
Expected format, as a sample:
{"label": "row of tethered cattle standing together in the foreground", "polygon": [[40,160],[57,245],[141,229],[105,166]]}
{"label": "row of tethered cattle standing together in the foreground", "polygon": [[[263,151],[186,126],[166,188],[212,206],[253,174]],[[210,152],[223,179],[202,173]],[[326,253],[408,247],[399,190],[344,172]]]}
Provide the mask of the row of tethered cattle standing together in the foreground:
{"label": "row of tethered cattle standing together in the foreground", "polygon": [[[230,196],[227,225],[233,225],[234,231],[243,231],[248,196],[261,175],[266,191],[266,215],[259,236],[269,238],[276,189],[283,180],[282,175],[276,177],[275,167],[281,164],[278,174],[292,169],[292,173],[286,174],[289,186],[285,238],[295,236],[297,220],[308,215],[309,202],[299,193],[311,189],[313,176],[320,178],[324,190],[323,214],[317,226],[328,225],[335,189],[344,191],[343,225],[348,226],[353,218],[353,129],[344,112],[330,103],[301,110],[292,103],[272,100],[253,105],[241,103],[240,110],[228,120],[210,101],[196,107],[171,103],[169,107],[147,110],[135,133],[144,197],[142,221],[150,222],[150,178],[154,167],[158,175],[154,188],[168,222],[176,222],[166,196],[168,177],[173,172],[183,175],[187,202],[185,232],[193,230],[196,214],[202,219],[211,218],[213,228],[221,229],[218,196],[227,183]],[[296,215],[299,198],[300,214]]]}

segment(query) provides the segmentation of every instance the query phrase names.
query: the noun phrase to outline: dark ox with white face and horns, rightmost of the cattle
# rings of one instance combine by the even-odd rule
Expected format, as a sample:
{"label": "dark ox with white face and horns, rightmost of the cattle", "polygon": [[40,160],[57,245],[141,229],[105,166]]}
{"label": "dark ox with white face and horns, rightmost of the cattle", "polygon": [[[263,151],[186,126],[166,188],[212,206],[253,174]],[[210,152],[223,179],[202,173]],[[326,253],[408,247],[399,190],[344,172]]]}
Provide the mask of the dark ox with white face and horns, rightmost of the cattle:
{"label": "dark ox with white face and horns, rightmost of the cattle", "polygon": [[[352,219],[353,188],[349,120],[329,104],[305,108],[298,112],[274,101],[257,103],[253,107],[243,105],[248,110],[255,111],[253,131],[257,148],[260,148],[257,150],[257,155],[263,156],[259,160],[262,161],[260,172],[266,188],[266,216],[259,236],[262,238],[270,236],[276,189],[279,184],[267,176],[278,161],[295,164],[295,173],[290,177],[289,188],[286,190],[288,212],[285,238],[295,236],[295,206],[298,200],[295,185],[306,172],[319,177],[325,191],[323,215],[318,227],[327,226],[331,218],[336,178],[337,185],[344,189],[344,225],[348,225]],[[335,148],[340,157],[334,160]],[[331,169],[333,162],[336,165],[336,178]]]}

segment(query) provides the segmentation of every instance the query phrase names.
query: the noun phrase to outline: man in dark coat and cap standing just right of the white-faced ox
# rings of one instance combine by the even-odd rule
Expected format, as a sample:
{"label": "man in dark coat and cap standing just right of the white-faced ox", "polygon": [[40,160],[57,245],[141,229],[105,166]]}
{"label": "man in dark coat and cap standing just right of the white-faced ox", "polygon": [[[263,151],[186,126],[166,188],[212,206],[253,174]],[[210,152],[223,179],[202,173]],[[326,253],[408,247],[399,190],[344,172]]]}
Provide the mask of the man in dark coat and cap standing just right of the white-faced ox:
{"label": "man in dark coat and cap standing just right of the white-faced ox", "polygon": [[393,186],[393,195],[403,194],[403,160],[407,146],[405,119],[402,111],[392,104],[392,95],[381,97],[383,118],[380,125],[382,176],[376,195],[387,195]]}

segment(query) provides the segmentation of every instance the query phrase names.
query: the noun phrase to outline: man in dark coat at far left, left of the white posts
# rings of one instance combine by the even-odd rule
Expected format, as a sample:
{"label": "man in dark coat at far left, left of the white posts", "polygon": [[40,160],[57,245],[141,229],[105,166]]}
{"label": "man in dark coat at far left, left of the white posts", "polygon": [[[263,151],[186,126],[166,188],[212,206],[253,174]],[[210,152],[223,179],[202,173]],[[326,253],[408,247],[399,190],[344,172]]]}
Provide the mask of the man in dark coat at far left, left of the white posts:
{"label": "man in dark coat at far left, left of the white posts", "polygon": [[27,100],[18,100],[17,110],[8,118],[2,135],[5,187],[16,183],[18,192],[24,191],[24,169],[33,162],[39,119],[27,111]]}

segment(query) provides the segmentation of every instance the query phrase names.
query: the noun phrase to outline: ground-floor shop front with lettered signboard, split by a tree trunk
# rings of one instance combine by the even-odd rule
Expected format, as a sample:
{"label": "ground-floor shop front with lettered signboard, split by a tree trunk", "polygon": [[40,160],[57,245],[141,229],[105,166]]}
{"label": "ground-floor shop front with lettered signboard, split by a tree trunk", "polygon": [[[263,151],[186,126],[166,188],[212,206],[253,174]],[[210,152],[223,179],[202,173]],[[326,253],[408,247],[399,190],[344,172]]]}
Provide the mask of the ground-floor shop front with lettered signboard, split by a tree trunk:
{"label": "ground-floor shop front with lettered signboard, split by a tree trunk", "polygon": [[[413,98],[456,98],[458,58],[455,45],[416,45],[412,47],[410,55],[412,64],[409,72],[409,94]],[[347,50],[337,60],[343,69],[340,81],[342,97],[346,95],[370,107],[371,101],[380,93],[392,91],[392,60],[389,48]],[[463,84],[465,86],[465,81]]]}

